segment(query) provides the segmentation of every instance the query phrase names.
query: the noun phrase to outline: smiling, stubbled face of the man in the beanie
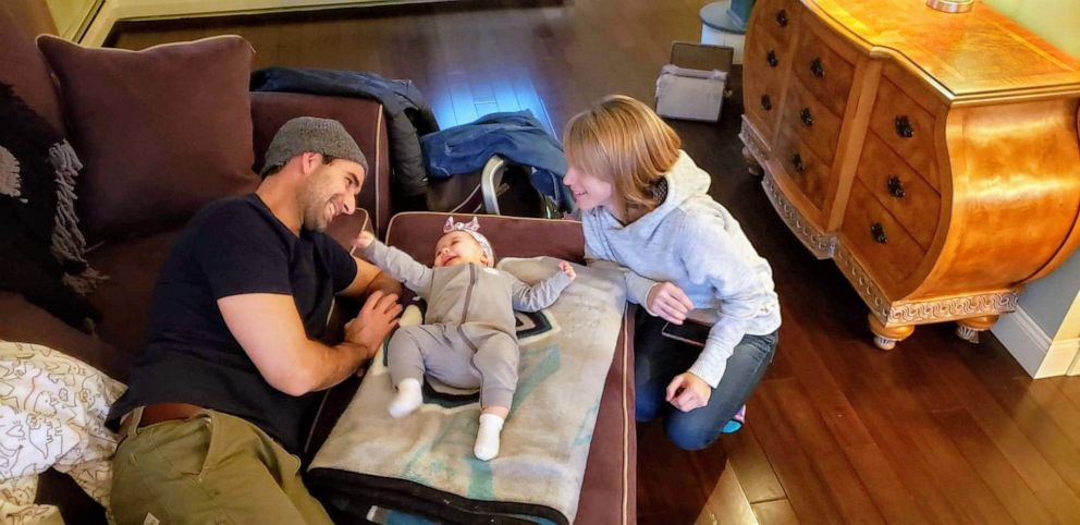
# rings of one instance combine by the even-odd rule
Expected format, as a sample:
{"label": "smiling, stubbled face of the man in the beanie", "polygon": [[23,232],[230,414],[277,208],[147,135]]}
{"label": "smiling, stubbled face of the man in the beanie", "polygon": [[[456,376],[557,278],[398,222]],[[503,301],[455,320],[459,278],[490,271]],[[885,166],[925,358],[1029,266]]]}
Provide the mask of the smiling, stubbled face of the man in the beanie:
{"label": "smiling, stubbled face of the man in the beanie", "polygon": [[364,175],[363,166],[346,159],[334,159],[311,171],[299,194],[304,228],[322,232],[335,217],[356,211]]}

